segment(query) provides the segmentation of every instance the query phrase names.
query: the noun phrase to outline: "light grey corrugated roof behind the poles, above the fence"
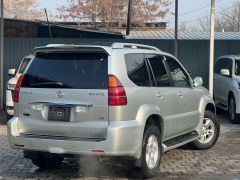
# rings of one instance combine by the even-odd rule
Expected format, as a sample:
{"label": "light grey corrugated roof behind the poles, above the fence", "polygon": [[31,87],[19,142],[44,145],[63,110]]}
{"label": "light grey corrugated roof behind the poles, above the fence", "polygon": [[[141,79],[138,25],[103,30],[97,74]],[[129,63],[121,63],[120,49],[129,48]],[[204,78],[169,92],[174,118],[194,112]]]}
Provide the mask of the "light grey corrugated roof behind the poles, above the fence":
{"label": "light grey corrugated roof behind the poles, above the fence", "polygon": [[[126,39],[174,39],[172,31],[131,31]],[[209,32],[179,32],[180,40],[209,40]],[[215,40],[240,40],[240,32],[216,32]]]}

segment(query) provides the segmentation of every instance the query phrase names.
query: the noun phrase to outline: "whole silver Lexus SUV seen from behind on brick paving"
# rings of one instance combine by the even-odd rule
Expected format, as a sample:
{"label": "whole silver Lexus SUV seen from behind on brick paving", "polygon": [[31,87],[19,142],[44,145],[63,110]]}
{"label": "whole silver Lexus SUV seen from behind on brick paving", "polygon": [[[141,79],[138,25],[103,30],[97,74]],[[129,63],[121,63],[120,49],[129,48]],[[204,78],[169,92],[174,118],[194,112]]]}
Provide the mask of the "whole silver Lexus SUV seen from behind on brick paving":
{"label": "whole silver Lexus SUV seen from behind on brick paving", "polygon": [[124,157],[151,177],[163,152],[216,143],[215,105],[201,84],[152,46],[35,48],[13,93],[9,142],[42,168],[69,154]]}

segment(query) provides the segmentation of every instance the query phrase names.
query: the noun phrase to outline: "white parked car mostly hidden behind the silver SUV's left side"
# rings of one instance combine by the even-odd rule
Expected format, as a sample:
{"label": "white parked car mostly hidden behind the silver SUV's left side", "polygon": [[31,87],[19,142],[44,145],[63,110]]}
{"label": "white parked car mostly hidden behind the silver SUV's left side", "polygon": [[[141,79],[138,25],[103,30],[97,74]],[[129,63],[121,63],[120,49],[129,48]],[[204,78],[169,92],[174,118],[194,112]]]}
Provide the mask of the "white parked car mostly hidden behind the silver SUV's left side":
{"label": "white parked car mostly hidden behind the silver SUV's left side", "polygon": [[9,69],[8,70],[8,75],[13,76],[7,83],[7,90],[6,90],[6,109],[7,109],[7,113],[10,116],[14,115],[14,102],[12,99],[12,92],[15,89],[15,86],[17,84],[18,78],[22,75],[22,73],[24,72],[25,68],[27,67],[28,63],[31,61],[31,59],[33,58],[33,55],[27,55],[25,56],[21,63],[20,66],[18,68],[18,70],[16,71],[16,69]]}

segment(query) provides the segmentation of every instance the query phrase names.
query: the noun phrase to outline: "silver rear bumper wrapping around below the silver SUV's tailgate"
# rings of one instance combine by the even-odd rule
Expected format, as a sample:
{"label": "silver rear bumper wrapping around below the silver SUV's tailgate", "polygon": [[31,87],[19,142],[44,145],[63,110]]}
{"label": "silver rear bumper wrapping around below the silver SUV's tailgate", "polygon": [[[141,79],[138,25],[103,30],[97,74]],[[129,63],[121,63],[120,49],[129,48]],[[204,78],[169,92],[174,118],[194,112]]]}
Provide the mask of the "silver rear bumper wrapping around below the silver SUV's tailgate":
{"label": "silver rear bumper wrapping around below the silver SUV's tailgate", "polygon": [[137,121],[112,121],[107,139],[100,142],[28,138],[19,134],[18,118],[8,122],[8,140],[12,148],[57,154],[128,156],[139,158],[144,127]]}

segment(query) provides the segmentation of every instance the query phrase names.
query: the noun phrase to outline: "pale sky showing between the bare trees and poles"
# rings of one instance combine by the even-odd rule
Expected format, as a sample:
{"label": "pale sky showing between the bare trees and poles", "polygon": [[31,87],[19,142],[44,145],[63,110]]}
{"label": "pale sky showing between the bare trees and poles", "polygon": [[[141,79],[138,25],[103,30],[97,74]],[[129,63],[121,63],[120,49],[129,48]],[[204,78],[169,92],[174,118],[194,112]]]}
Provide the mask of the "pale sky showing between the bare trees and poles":
{"label": "pale sky showing between the bare trees and poles", "polygon": [[[174,0],[170,12],[174,13]],[[231,3],[236,0],[216,0],[216,12],[222,12],[223,9],[231,7]],[[41,8],[47,8],[53,14],[58,5],[64,5],[67,0],[38,0]],[[179,0],[179,23],[185,23],[187,26],[195,26],[198,19],[209,15],[211,0]],[[168,22],[169,27],[174,26],[174,15],[169,14],[163,19]]]}

